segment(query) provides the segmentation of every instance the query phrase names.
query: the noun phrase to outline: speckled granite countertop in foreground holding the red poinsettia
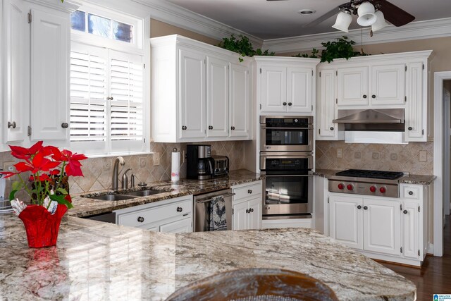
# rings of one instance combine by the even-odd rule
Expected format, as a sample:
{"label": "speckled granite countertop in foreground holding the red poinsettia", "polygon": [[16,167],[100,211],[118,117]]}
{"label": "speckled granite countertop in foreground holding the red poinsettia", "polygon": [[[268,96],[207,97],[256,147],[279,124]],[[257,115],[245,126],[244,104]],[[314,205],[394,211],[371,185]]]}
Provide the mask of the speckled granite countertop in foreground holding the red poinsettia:
{"label": "speckled granite countertop in foreground holding the red poinsettia", "polygon": [[31,249],[0,214],[0,298],[164,300],[222,271],[279,268],[328,285],[339,300],[414,300],[414,283],[305,228],[169,234],[65,216],[56,247]]}

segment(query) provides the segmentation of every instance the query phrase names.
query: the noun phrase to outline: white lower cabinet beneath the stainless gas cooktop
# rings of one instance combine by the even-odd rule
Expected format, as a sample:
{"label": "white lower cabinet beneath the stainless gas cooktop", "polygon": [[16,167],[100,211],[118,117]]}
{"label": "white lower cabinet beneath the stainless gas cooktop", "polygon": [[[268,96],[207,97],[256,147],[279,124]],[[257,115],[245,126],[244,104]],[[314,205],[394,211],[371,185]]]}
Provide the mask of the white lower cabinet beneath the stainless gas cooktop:
{"label": "white lower cabinet beneath the stainless gas cooktop", "polygon": [[423,185],[401,184],[399,198],[326,195],[331,238],[373,259],[421,266],[428,247]]}

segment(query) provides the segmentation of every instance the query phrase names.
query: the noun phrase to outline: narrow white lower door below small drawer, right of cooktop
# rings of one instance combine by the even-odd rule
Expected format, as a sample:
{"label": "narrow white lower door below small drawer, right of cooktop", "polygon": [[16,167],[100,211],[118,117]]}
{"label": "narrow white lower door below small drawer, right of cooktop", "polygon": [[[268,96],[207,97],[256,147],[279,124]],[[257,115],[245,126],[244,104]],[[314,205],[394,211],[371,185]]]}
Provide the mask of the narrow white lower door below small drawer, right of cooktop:
{"label": "narrow white lower door below small drawer, right of cooktop", "polygon": [[419,258],[421,249],[419,244],[419,204],[418,202],[405,202],[402,206],[402,253],[404,257]]}

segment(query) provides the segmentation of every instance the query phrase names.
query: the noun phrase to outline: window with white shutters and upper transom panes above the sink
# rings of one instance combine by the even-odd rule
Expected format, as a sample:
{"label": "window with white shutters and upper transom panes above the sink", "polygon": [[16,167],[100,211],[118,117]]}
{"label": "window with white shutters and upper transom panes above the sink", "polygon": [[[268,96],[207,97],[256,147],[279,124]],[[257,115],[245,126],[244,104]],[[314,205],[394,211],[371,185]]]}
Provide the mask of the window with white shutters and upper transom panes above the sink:
{"label": "window with white shutters and upper transom panes above the sink", "polygon": [[[98,36],[128,42],[134,26],[75,11],[71,27],[88,41]],[[144,57],[78,40],[70,49],[72,147],[87,154],[144,152]]]}

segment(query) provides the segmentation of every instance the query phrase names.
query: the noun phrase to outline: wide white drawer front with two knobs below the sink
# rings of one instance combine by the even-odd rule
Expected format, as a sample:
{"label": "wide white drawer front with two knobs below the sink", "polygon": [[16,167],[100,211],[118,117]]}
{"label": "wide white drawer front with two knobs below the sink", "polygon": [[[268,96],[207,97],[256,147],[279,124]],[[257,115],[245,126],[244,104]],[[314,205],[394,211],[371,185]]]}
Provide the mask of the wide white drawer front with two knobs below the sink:
{"label": "wide white drawer front with two knobs below the sink", "polygon": [[180,218],[183,216],[192,216],[191,199],[159,207],[133,211],[128,214],[121,214],[118,216],[118,224],[137,227],[176,216],[180,216]]}

